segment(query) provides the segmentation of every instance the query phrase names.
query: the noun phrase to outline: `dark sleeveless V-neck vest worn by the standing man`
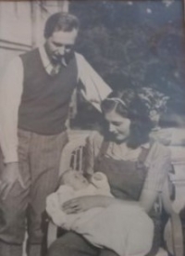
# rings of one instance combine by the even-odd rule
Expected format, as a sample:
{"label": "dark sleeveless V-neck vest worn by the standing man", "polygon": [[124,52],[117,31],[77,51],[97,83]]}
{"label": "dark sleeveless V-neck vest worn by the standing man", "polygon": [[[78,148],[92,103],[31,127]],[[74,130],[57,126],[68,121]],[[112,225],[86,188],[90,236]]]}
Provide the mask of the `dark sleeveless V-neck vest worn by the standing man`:
{"label": "dark sleeveless V-neck vest worn by the standing man", "polygon": [[19,107],[19,128],[37,134],[59,134],[66,129],[68,106],[77,85],[76,58],[62,66],[55,76],[43,67],[38,49],[20,56],[23,69],[23,93]]}

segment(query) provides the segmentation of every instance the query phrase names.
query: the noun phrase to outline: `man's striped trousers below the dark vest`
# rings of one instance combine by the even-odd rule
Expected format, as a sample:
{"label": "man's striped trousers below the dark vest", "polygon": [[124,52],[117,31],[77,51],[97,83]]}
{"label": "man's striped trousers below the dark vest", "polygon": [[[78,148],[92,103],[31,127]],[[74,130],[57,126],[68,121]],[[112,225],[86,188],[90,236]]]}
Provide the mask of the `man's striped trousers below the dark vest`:
{"label": "man's striped trousers below the dark vest", "polygon": [[40,256],[45,198],[58,185],[59,160],[68,142],[67,132],[41,135],[19,130],[19,172],[6,199],[0,198],[0,256],[21,256],[25,230],[28,255]]}

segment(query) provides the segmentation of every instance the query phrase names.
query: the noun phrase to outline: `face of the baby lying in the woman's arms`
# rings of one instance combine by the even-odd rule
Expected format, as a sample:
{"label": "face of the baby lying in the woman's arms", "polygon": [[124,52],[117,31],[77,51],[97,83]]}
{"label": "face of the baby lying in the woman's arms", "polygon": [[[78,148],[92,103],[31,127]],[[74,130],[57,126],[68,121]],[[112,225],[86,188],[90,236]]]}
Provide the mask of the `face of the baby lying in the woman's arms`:
{"label": "face of the baby lying in the woman's arms", "polygon": [[64,183],[73,187],[74,190],[80,190],[89,185],[87,179],[77,171],[68,171],[64,176]]}

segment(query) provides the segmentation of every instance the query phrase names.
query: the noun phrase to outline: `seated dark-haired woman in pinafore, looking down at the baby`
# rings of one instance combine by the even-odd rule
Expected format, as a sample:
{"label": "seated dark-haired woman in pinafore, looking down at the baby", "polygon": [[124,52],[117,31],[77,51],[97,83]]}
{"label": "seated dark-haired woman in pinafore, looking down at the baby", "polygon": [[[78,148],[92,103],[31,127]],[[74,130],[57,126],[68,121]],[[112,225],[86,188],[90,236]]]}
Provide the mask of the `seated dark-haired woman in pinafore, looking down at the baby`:
{"label": "seated dark-haired woman in pinafore, looking down at the baby", "polygon": [[[154,243],[150,255],[160,246],[160,211],[155,202],[163,190],[170,169],[169,150],[158,142],[150,143],[149,134],[153,123],[149,109],[142,98],[127,89],[113,92],[102,103],[105,116],[104,135],[93,133],[87,141],[86,175],[105,173],[114,198],[106,196],[84,196],[68,200],[63,204],[67,213],[87,211],[95,207],[108,207],[115,202],[123,205],[136,205],[147,212],[154,220]],[[133,219],[133,223],[137,221]],[[142,243],[142,233],[125,236],[122,255],[130,255],[132,247]],[[127,230],[126,230],[127,232]],[[135,234],[136,235],[136,234]],[[112,232],[117,239],[117,231]],[[137,254],[137,253],[135,253]],[[138,251],[141,254],[141,251]],[[116,256],[106,248],[94,247],[86,239],[74,232],[59,237],[48,251],[49,256]],[[119,255],[119,256],[122,256]]]}

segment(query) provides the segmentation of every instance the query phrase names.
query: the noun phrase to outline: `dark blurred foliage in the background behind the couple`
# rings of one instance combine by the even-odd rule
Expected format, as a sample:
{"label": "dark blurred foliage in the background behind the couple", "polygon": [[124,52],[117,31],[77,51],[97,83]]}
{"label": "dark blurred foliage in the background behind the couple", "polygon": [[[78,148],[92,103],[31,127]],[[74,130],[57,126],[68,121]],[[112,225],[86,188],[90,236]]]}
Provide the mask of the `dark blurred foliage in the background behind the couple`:
{"label": "dark blurred foliage in the background behind the couple", "polygon": [[[70,1],[80,19],[77,51],[114,90],[151,86],[170,96],[168,120],[185,109],[185,44],[181,0]],[[98,113],[80,98],[78,120]],[[177,115],[178,114],[178,115]],[[79,125],[79,124],[78,124]],[[87,125],[87,128],[89,126]]]}

